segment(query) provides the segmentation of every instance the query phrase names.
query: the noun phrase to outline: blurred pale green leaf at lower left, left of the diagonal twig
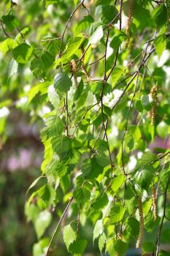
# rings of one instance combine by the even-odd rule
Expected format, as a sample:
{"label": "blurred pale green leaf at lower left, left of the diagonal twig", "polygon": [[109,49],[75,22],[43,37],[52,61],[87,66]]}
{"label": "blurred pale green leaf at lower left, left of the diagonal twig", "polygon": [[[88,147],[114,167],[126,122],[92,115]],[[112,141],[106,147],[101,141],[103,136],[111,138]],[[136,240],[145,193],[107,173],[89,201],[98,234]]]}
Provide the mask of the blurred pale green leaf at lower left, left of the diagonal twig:
{"label": "blurred pale green leaf at lower left, left of the diagonal twig", "polygon": [[52,220],[52,216],[49,211],[41,211],[39,213],[39,216],[37,217],[35,221],[35,230],[36,230],[36,235],[38,238],[41,238],[47,227],[50,225],[50,222]]}

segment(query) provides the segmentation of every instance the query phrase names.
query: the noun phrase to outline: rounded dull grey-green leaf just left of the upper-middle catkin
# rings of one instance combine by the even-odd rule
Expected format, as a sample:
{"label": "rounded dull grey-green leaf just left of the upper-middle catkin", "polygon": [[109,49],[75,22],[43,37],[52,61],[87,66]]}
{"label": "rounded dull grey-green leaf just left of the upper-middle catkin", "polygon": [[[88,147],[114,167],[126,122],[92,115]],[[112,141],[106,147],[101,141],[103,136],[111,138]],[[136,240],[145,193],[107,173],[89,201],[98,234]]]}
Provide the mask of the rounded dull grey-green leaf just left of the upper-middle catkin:
{"label": "rounded dull grey-green leaf just left of the upper-middle catkin", "polygon": [[59,94],[69,91],[71,86],[72,80],[69,78],[68,75],[66,75],[66,73],[55,75],[54,87]]}

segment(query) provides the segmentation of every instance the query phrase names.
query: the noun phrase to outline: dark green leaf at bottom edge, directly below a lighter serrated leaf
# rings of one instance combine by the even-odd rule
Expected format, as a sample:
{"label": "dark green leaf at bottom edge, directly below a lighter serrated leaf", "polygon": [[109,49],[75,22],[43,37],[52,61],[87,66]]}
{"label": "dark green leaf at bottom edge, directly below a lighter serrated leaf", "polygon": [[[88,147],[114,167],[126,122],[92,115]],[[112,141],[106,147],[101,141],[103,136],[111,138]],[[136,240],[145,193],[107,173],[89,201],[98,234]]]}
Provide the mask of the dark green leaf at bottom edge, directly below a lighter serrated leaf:
{"label": "dark green leaf at bottom edge, directly below a lighter serrated leaf", "polygon": [[85,239],[77,238],[72,244],[69,246],[69,252],[74,255],[82,255],[85,252],[85,248],[88,245],[88,241]]}

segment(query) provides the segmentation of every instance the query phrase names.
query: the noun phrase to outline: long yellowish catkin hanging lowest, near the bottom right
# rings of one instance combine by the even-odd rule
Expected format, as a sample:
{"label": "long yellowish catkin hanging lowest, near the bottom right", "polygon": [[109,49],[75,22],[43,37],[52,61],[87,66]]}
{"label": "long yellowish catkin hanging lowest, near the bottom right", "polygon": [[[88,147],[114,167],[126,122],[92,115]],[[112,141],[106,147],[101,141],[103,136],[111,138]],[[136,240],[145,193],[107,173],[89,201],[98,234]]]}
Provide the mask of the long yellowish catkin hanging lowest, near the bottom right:
{"label": "long yellowish catkin hanging lowest, near the bottom right", "polygon": [[138,200],[138,208],[139,208],[139,222],[140,222],[140,227],[139,227],[139,236],[136,241],[136,249],[140,247],[142,237],[144,235],[144,214],[143,214],[143,207],[142,207],[142,198],[137,197]]}

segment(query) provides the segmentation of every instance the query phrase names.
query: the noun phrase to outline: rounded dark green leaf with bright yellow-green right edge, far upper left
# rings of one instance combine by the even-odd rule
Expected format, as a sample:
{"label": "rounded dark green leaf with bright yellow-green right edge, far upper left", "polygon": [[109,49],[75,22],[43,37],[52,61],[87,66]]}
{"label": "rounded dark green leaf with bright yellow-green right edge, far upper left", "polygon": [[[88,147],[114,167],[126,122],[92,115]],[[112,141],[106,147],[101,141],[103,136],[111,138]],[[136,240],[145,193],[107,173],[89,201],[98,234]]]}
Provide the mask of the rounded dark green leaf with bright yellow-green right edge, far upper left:
{"label": "rounded dark green leaf with bright yellow-green right edge, far upper left", "polygon": [[32,56],[33,48],[25,42],[12,50],[12,56],[18,63],[26,64]]}

